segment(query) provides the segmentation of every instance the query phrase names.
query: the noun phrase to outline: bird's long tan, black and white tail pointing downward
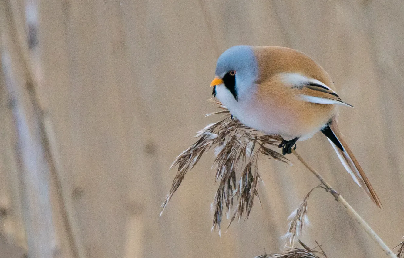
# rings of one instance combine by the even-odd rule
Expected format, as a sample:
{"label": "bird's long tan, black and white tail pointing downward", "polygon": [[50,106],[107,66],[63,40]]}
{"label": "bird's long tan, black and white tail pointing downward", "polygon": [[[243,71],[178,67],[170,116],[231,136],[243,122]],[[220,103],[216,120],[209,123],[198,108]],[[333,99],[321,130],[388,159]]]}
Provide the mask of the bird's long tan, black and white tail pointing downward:
{"label": "bird's long tan, black and white tail pointing downward", "polygon": [[328,141],[334,148],[335,152],[337,152],[342,165],[345,167],[348,173],[351,174],[353,181],[362,187],[368,194],[369,198],[377,205],[377,207],[381,209],[382,205],[379,197],[377,197],[377,194],[375,190],[373,190],[373,187],[362,170],[362,167],[360,167],[358,161],[355,159],[355,156],[353,156],[348,145],[345,143],[343,136],[338,129],[336,119],[334,117],[331,118],[330,123],[328,123],[328,125],[324,127],[321,132],[327,136]]}

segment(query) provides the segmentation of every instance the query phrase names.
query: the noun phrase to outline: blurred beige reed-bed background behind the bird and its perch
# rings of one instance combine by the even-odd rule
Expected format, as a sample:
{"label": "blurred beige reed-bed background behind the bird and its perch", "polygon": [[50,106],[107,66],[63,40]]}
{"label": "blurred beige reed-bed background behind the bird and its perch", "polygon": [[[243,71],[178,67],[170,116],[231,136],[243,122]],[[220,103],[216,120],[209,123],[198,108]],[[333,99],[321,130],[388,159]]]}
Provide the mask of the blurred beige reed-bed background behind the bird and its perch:
{"label": "blurred beige reed-bed background behind the bird and its perch", "polygon": [[[339,95],[340,129],[377,191],[379,210],[323,135],[306,161],[389,247],[404,234],[404,2],[0,0],[0,256],[248,258],[278,252],[287,217],[318,180],[294,156],[263,160],[262,209],[211,232],[213,153],[161,217],[175,157],[216,110],[217,57],[236,44],[307,53]],[[329,258],[384,257],[331,195],[309,200]],[[228,221],[224,220],[223,231]],[[2,226],[1,226],[2,225]]]}

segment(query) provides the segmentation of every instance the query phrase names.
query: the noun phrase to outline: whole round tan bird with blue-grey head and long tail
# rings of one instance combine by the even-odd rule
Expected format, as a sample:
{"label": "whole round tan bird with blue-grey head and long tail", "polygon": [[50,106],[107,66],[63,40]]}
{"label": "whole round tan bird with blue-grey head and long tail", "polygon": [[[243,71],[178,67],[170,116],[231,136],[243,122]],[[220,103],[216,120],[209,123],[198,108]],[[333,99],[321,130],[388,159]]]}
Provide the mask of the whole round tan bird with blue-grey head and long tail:
{"label": "whole round tan bird with blue-grey head and long tail", "polygon": [[338,128],[338,107],[353,106],[337,95],[330,76],[314,59],[287,47],[230,47],[217,59],[210,87],[232,117],[280,135],[283,155],[292,153],[297,141],[322,132],[353,180],[382,208]]}

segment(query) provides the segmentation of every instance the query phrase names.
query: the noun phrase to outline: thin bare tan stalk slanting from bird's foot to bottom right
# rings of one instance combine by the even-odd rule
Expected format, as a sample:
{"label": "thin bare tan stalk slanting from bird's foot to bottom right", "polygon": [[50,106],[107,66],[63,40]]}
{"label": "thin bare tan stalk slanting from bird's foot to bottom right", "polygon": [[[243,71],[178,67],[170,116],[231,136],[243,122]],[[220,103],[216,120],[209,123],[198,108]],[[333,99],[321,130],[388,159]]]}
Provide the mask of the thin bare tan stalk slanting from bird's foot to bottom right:
{"label": "thin bare tan stalk slanting from bird's foot to bottom right", "polygon": [[337,191],[335,191],[330,186],[330,184],[328,184],[316,170],[310,167],[310,165],[307,164],[306,161],[295,150],[292,150],[292,153],[295,154],[297,159],[299,159],[299,161],[305,167],[307,167],[307,169],[309,169],[311,173],[313,173],[318,178],[318,180],[320,180],[320,182],[325,186],[325,188],[327,188],[327,191],[330,192],[330,194],[335,198],[335,200],[337,200],[339,203],[341,203],[343,207],[345,207],[349,216],[351,216],[354,220],[356,220],[356,222],[358,222],[358,224],[364,229],[364,231],[368,233],[370,238],[372,238],[381,247],[381,249],[383,249],[385,254],[387,254],[387,256],[391,258],[397,258],[397,256],[393,253],[393,251],[390,250],[390,248],[383,242],[383,240],[376,234],[376,232],[373,231],[373,229],[364,221],[364,219],[361,216],[359,216],[359,214],[351,207],[351,205],[349,205],[349,203]]}

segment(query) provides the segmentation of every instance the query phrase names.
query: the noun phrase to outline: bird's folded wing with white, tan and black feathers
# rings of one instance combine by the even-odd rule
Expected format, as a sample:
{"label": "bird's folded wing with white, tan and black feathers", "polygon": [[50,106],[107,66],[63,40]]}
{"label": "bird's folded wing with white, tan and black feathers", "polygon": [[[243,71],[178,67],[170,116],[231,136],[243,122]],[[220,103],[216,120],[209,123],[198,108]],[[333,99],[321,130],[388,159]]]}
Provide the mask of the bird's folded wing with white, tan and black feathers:
{"label": "bird's folded wing with white, tan and black feathers", "polygon": [[319,104],[337,104],[353,107],[343,102],[342,99],[330,87],[314,78],[309,78],[301,74],[284,74],[284,81],[292,88],[296,89],[297,95],[305,102]]}

